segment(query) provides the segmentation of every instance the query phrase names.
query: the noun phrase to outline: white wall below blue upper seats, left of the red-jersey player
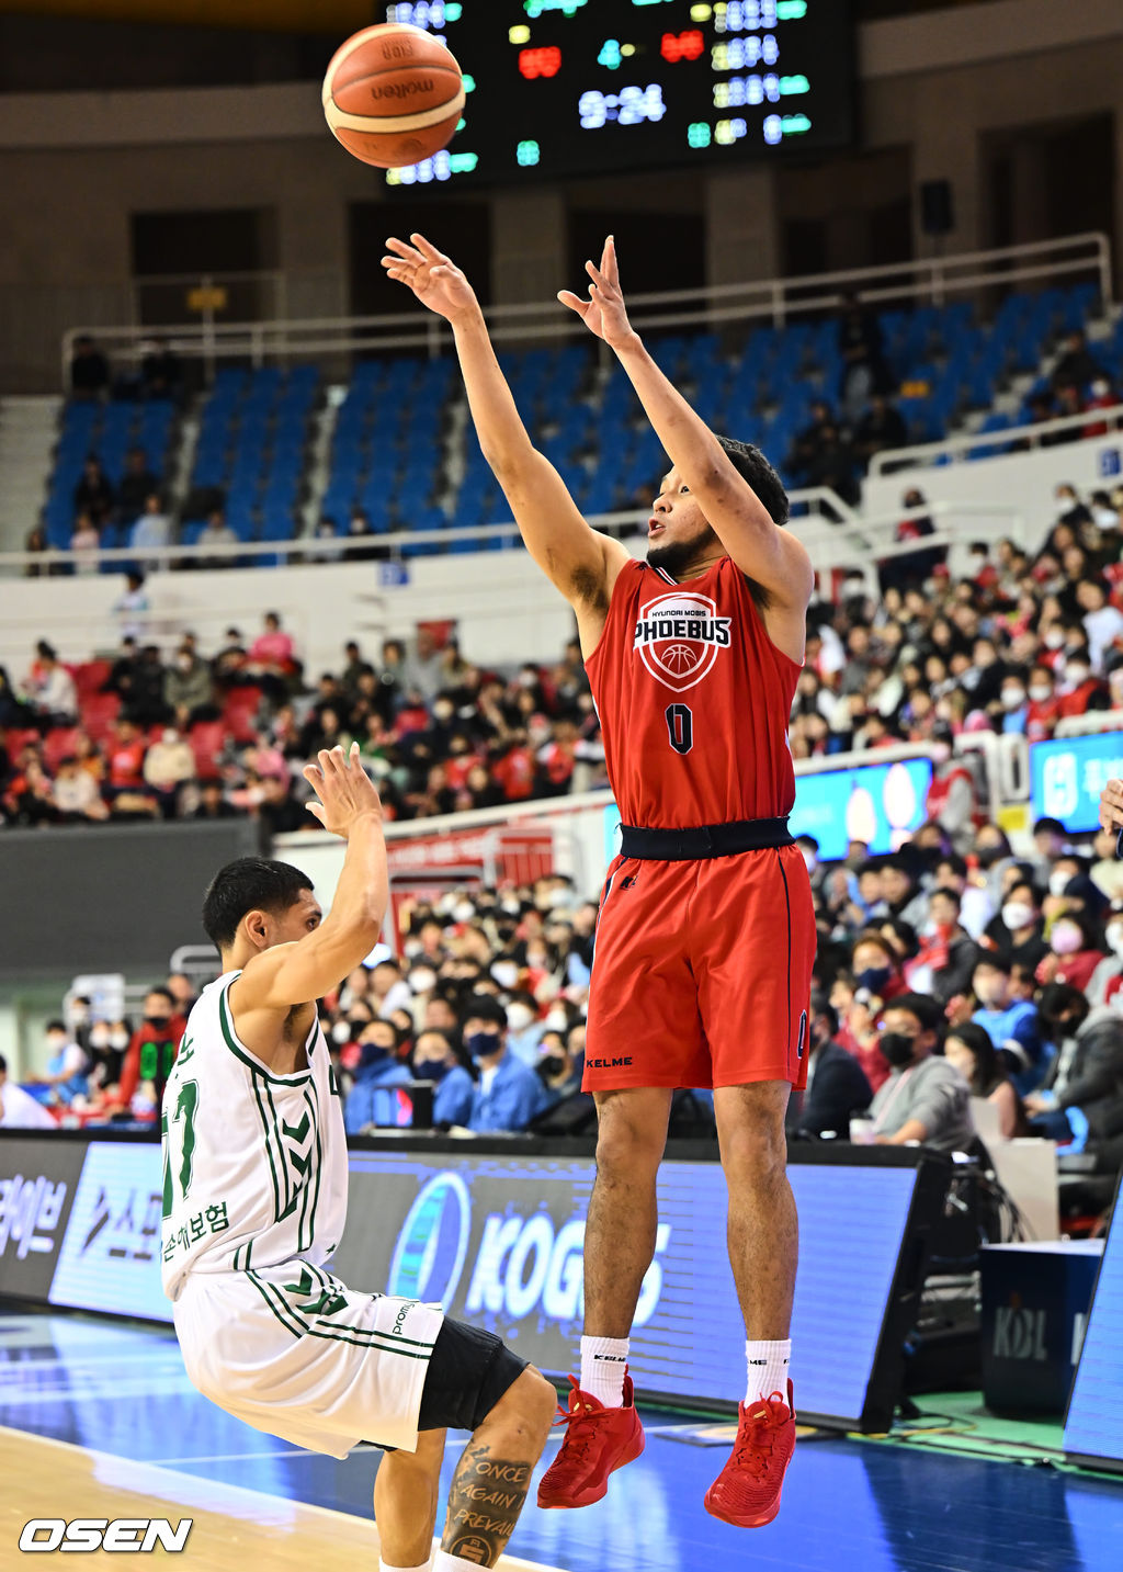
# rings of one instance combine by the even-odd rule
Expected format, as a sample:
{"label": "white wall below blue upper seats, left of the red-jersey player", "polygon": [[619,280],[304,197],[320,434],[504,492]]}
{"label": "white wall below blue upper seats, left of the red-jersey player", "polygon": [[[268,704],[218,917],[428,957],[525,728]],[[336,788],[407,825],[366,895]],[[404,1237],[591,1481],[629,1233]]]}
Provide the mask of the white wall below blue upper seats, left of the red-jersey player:
{"label": "white wall below blue upper seats, left of the red-jersey player", "polygon": [[[369,656],[386,634],[416,623],[455,618],[460,648],[484,665],[561,659],[573,613],[521,549],[463,556],[415,558],[410,583],[386,588],[379,563],[245,567],[228,572],[163,572],[148,580],[152,638],[165,649],[193,629],[204,652],[234,624],[250,638],[265,612],[280,612],[311,679],[342,665],[357,638]],[[50,638],[63,660],[88,660],[119,643],[113,604],[124,580],[0,578],[0,662],[19,679],[36,638]]]}

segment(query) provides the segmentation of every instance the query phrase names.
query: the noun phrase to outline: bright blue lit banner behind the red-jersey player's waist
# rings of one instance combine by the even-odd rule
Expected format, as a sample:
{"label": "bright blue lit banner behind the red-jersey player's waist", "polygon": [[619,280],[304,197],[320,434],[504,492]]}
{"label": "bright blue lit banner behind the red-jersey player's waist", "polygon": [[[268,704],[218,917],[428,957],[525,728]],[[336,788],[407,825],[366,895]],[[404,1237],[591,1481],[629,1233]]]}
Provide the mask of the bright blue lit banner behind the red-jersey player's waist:
{"label": "bright blue lit banner behind the red-jersey player's waist", "polygon": [[[795,778],[792,835],[814,835],[820,861],[840,861],[851,841],[865,841],[873,855],[894,852],[925,821],[931,759],[856,764],[840,770],[807,770]],[[605,808],[605,857],[620,850],[620,810]]]}

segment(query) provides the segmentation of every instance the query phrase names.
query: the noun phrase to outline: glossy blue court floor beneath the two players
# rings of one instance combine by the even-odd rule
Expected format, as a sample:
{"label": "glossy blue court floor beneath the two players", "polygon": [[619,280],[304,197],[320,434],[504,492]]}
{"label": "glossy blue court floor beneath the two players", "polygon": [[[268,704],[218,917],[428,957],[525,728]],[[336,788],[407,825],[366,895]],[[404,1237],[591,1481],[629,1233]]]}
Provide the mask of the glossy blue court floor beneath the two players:
{"label": "glossy blue court floor beneath the two players", "polygon": [[[644,1421],[647,1449],[613,1479],[608,1498],[578,1512],[529,1506],[512,1555],[564,1572],[1118,1572],[1123,1566],[1123,1481],[905,1445],[812,1438],[796,1448],[777,1522],[744,1531],[702,1509],[727,1443],[686,1442],[682,1415],[649,1410]],[[2,1314],[0,1426],[160,1464],[170,1478],[179,1476],[182,1500],[198,1500],[196,1481],[215,1481],[371,1514],[377,1451],[363,1448],[336,1462],[247,1429],[195,1393],[174,1336],[162,1328]],[[451,1438],[444,1484],[459,1445]],[[547,1462],[556,1445],[551,1440]],[[199,1504],[204,1500],[206,1492]],[[60,1501],[60,1512],[64,1506]],[[330,1536],[327,1526],[328,1561]],[[11,1564],[8,1552],[0,1555],[3,1566]]]}

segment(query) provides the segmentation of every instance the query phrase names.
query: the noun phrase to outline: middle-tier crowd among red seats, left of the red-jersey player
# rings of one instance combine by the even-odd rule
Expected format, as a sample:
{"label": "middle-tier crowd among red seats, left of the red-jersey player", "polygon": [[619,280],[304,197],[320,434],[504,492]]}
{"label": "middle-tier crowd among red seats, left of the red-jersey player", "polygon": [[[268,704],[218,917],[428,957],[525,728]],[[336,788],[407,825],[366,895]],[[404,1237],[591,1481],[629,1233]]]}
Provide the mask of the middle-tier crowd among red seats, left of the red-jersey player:
{"label": "middle-tier crowd among red seats, left of the red-jersey player", "polygon": [[[129,623],[141,612],[134,575],[118,613]],[[605,781],[576,641],[558,665],[514,674],[473,665],[426,626],[385,640],[374,660],[353,641],[342,656],[309,682],[270,612],[256,638],[229,629],[209,656],[192,634],[170,660],[129,634],[83,693],[41,640],[19,685],[0,671],[0,813],[22,827],[248,814],[270,835],[313,830],[302,767],[352,740],[390,819]],[[77,676],[85,682],[86,668]]]}

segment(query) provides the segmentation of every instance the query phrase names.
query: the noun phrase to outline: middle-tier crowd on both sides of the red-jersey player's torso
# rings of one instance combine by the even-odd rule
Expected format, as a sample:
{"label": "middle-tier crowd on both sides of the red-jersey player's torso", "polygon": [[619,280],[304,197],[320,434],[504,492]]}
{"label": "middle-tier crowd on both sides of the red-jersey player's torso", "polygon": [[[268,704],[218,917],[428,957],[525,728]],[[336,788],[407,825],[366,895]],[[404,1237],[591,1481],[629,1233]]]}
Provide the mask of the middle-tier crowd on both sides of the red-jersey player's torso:
{"label": "middle-tier crowd on both sides of the red-jersey player's torso", "polygon": [[[944,759],[941,824],[964,844],[972,803],[957,788],[968,777],[950,756],[958,736],[1037,742],[1068,717],[1123,709],[1123,487],[1081,497],[1059,486],[1040,550],[979,541],[958,577],[946,547],[924,544],[931,520],[922,494],[913,487],[903,503],[908,549],[883,563],[880,596],[853,575],[836,602],[812,605],[792,751],[806,759],[933,745]],[[272,832],[311,827],[300,767],[316,748],[350,739],[397,819],[605,781],[576,641],[556,667],[526,663],[512,676],[421,627],[372,657],[352,641],[338,671],[311,681],[272,613],[254,640],[229,629],[204,654],[184,634],[168,659],[140,641],[146,604],[143,575],[132,574],[118,616],[135,634],[97,696],[116,695],[119,714],[97,736],[74,671],[49,643],[22,684],[0,671],[6,822],[248,813]]]}

